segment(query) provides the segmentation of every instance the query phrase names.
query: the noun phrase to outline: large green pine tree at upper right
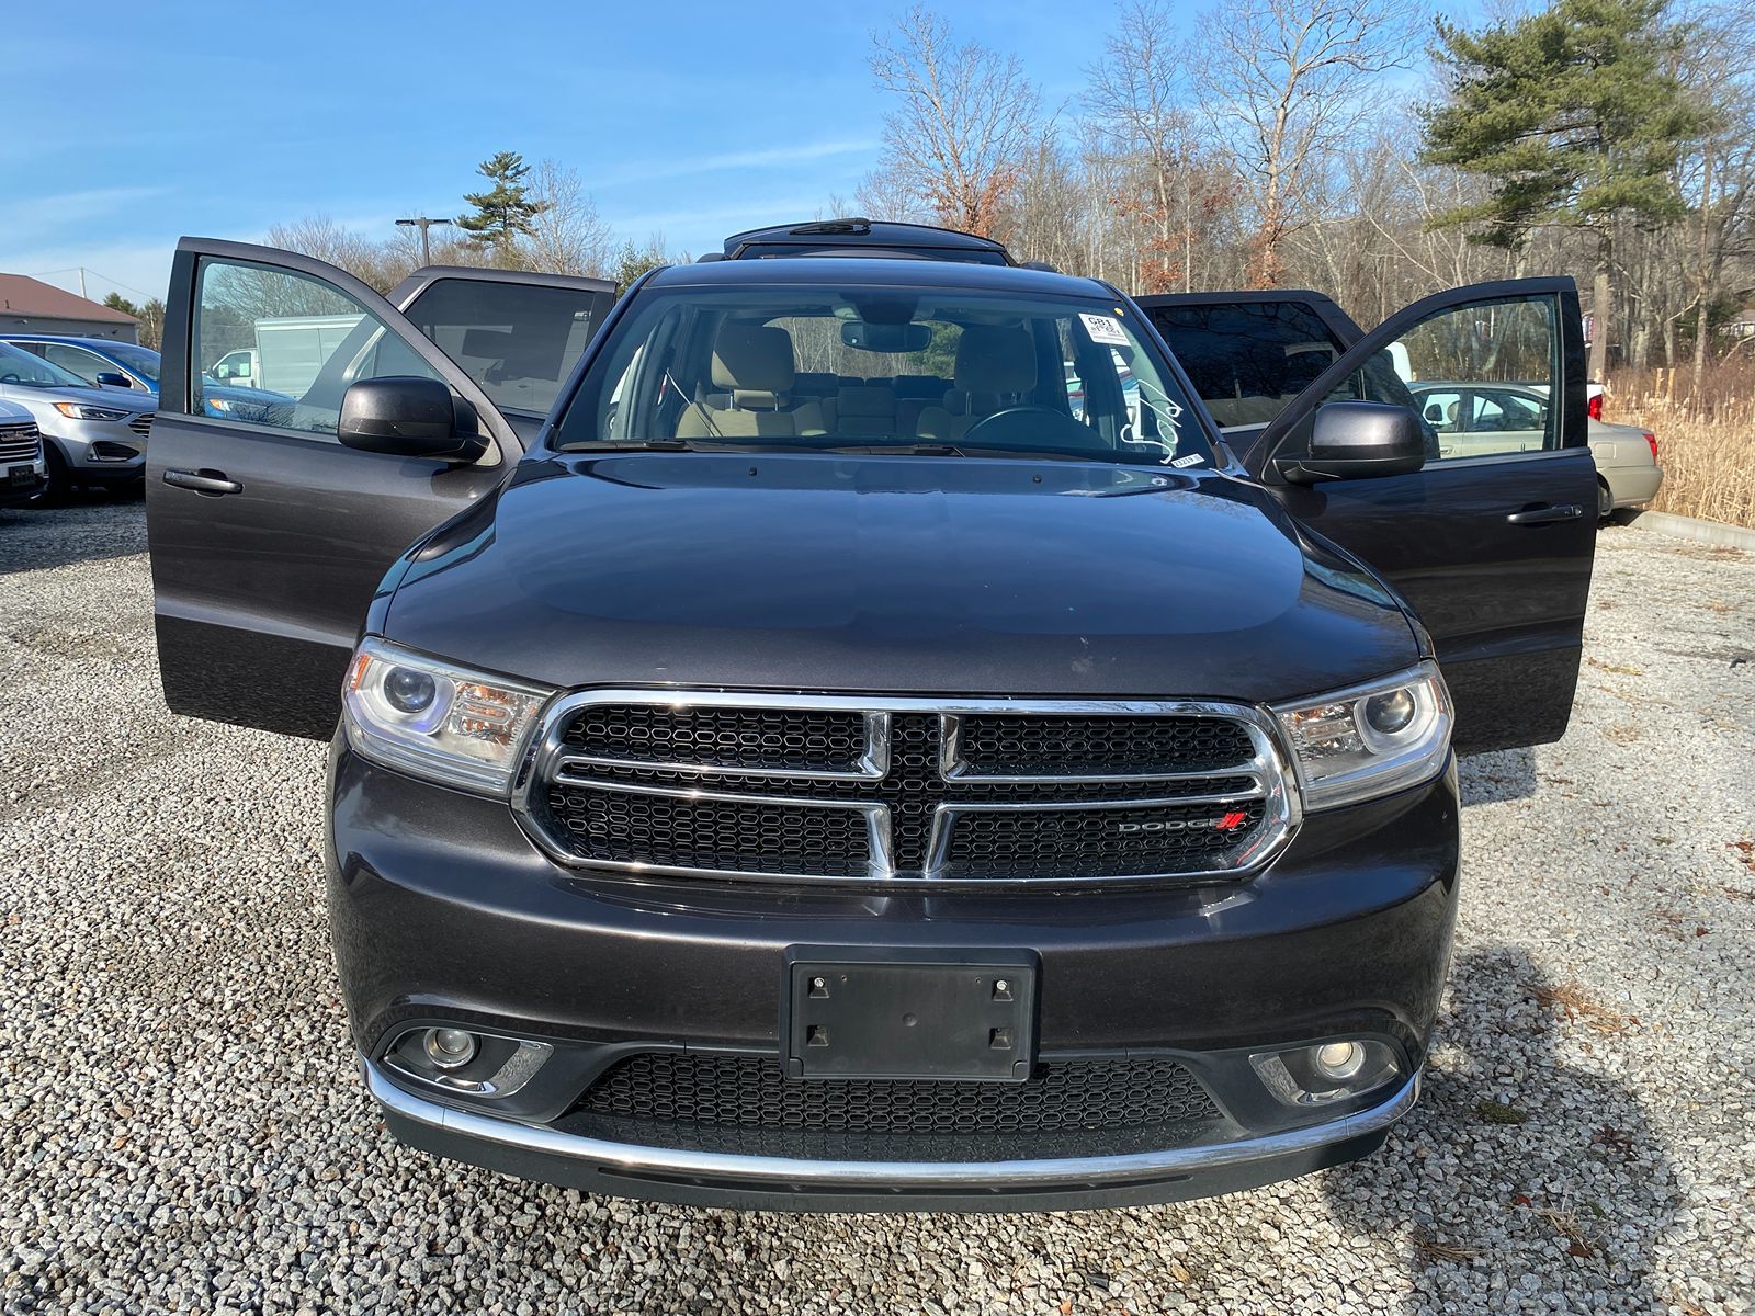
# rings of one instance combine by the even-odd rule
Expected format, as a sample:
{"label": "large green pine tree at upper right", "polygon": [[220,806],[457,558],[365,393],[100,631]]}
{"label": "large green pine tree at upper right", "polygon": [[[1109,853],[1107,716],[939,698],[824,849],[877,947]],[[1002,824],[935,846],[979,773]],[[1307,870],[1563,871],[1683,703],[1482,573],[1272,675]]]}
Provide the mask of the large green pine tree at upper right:
{"label": "large green pine tree at upper right", "polygon": [[1478,240],[1516,247],[1562,225],[1595,235],[1590,374],[1608,363],[1615,221],[1660,225],[1685,211],[1674,165],[1701,111],[1667,70],[1680,33],[1667,0],[1555,0],[1483,32],[1439,19],[1451,100],[1425,111],[1423,160],[1490,182],[1488,197],[1437,216],[1483,225]]}

